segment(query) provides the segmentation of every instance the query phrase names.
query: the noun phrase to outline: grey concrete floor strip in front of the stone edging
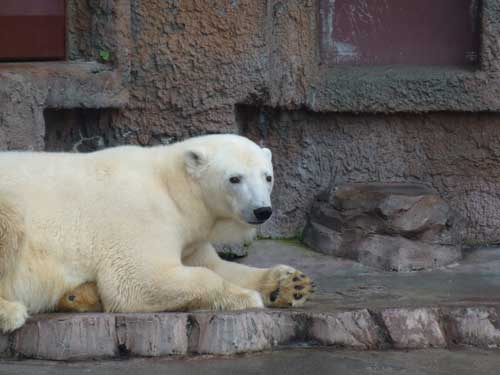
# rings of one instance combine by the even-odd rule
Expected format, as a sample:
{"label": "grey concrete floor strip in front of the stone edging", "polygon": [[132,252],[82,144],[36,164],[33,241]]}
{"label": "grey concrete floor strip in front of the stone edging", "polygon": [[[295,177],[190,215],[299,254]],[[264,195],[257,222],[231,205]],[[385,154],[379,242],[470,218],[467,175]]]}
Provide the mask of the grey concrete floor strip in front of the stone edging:
{"label": "grey concrete floor strip in front of the stone edging", "polygon": [[497,375],[500,352],[485,350],[416,350],[361,352],[294,349],[233,358],[134,359],[60,363],[0,362],[0,375]]}

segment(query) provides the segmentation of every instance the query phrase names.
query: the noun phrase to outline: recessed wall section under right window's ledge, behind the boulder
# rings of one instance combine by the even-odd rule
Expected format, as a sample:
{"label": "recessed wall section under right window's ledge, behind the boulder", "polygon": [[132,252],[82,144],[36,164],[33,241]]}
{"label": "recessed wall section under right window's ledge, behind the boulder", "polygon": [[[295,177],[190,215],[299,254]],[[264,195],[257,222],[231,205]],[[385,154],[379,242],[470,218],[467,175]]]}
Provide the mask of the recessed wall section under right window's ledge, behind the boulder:
{"label": "recessed wall section under right window's ledge, behind the boulder", "polygon": [[273,151],[275,214],[264,236],[301,233],[314,198],[351,182],[418,182],[466,220],[465,240],[500,240],[500,115],[318,114],[237,107],[241,134]]}

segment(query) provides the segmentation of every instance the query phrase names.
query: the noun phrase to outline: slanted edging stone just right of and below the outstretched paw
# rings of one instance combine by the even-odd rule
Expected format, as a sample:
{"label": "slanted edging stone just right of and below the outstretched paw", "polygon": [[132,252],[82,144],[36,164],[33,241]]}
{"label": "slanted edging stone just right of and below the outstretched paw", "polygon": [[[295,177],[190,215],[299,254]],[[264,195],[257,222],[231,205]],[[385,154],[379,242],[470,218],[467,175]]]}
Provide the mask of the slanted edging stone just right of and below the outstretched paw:
{"label": "slanted edging stone just right of and below the outstretched paw", "polygon": [[367,309],[318,314],[312,319],[309,338],[322,345],[377,349],[385,344],[381,327]]}

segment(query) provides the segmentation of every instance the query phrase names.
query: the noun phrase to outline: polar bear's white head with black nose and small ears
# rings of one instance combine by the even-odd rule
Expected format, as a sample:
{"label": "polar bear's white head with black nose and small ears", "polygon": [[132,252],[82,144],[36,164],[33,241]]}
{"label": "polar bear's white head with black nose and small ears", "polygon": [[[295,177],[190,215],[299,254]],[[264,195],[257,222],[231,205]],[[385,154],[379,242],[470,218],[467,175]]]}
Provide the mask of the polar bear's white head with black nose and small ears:
{"label": "polar bear's white head with black nose and small ears", "polygon": [[188,174],[218,219],[258,225],[271,217],[271,151],[236,135],[193,139],[185,151]]}

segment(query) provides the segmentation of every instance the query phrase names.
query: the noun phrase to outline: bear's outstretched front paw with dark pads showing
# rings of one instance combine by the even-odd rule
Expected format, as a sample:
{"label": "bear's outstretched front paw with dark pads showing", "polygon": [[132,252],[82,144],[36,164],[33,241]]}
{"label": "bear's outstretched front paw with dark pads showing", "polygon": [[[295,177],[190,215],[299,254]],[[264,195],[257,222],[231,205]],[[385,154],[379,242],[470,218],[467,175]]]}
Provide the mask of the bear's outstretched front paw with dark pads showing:
{"label": "bear's outstretched front paw with dark pads showing", "polygon": [[281,265],[266,273],[259,289],[268,307],[297,307],[314,293],[314,283],[295,268]]}

